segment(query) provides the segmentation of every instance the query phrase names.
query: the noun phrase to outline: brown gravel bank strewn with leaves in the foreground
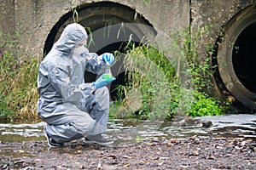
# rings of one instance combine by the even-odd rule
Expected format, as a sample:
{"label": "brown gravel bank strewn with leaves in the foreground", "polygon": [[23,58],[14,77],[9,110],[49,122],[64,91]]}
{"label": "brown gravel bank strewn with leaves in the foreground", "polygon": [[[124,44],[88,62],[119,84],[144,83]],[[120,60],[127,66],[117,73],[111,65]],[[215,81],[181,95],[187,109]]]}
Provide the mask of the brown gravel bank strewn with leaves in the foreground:
{"label": "brown gravel bank strewn with leaves in the foreground", "polygon": [[82,140],[63,148],[46,141],[1,142],[1,169],[256,169],[251,139],[154,139],[100,146]]}

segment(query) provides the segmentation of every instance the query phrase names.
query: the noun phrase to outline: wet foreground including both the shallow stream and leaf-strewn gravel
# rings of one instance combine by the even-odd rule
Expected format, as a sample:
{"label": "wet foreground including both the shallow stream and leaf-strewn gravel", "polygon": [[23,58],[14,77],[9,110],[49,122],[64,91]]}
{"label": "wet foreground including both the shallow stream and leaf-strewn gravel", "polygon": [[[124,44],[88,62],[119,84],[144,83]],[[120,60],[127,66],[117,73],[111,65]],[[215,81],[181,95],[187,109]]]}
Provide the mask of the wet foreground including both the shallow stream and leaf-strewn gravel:
{"label": "wet foreground including both the shallow stream and leaf-strewn gravel", "polygon": [[[202,122],[212,122],[203,127]],[[112,146],[74,141],[49,149],[44,122],[0,124],[2,169],[256,169],[256,115],[183,122],[110,120]]]}

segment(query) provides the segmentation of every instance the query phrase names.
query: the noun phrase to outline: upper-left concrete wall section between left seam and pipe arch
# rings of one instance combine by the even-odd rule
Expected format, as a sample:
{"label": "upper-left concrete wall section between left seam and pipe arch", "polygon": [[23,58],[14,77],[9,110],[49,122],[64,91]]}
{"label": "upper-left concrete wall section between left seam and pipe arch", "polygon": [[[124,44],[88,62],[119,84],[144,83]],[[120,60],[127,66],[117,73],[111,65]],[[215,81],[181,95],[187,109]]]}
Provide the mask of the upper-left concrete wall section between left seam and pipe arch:
{"label": "upper-left concrete wall section between left seam and pipe arch", "polygon": [[25,54],[43,56],[50,29],[70,10],[69,7],[69,1],[15,1],[16,31],[21,33],[20,48],[25,49]]}

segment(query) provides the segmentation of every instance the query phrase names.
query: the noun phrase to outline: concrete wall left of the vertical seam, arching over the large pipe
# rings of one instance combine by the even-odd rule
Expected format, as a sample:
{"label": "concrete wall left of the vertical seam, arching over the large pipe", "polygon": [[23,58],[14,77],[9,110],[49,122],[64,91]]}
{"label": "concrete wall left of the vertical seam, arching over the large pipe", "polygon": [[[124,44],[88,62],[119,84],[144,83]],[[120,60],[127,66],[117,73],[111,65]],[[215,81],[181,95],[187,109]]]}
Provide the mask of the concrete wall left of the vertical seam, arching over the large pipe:
{"label": "concrete wall left of the vertical seam, arching over the large pipe", "polygon": [[[8,7],[8,11],[0,11],[1,18],[3,18],[1,19],[2,22],[6,23],[4,26],[1,24],[0,30],[9,31],[6,28],[15,26],[15,31],[19,31],[22,35],[20,37],[20,48],[25,48],[26,52],[32,55],[42,55],[44,42],[49,31],[64,14],[70,12],[72,7],[75,7],[77,4],[89,5],[102,1],[75,1],[79,2],[77,4],[72,4],[67,0],[15,0],[14,3],[10,2],[9,0],[5,0],[4,3],[1,3],[1,7]],[[142,14],[156,30],[165,31],[166,34],[188,28],[189,26],[188,0],[112,0],[109,2],[124,4],[125,6],[136,9],[137,13]]]}

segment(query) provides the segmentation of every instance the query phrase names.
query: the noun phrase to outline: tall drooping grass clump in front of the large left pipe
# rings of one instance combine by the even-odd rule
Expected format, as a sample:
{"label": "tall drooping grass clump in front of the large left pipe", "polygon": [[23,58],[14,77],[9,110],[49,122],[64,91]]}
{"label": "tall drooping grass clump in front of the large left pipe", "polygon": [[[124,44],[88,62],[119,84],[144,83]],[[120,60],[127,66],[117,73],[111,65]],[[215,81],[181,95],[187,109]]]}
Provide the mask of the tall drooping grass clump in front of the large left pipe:
{"label": "tall drooping grass clump in front of the large left pipe", "polygon": [[[176,72],[166,57],[155,48],[140,46],[125,54],[128,82],[119,87],[119,118],[163,120],[172,116],[178,105]],[[176,101],[177,102],[176,102]],[[172,105],[170,105],[172,103]],[[176,105],[176,106],[174,106]]]}

